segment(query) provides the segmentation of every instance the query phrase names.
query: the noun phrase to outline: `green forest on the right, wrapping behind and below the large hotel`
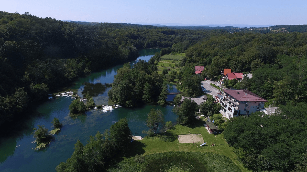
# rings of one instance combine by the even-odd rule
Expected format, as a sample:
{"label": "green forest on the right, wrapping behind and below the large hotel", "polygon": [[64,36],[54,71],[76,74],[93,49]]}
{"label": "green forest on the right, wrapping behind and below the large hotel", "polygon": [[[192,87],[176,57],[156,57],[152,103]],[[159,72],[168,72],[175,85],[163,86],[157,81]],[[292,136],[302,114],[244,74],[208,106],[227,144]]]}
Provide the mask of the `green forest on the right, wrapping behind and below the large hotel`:
{"label": "green forest on the right, wrapping behind and below the large hotel", "polygon": [[[235,33],[213,36],[186,51],[185,66],[204,65],[203,77],[218,79],[224,68],[252,73],[231,82],[278,107],[227,122],[224,137],[253,171],[306,171],[307,34]],[[230,82],[229,82],[230,83]],[[273,104],[274,103],[274,104]]]}

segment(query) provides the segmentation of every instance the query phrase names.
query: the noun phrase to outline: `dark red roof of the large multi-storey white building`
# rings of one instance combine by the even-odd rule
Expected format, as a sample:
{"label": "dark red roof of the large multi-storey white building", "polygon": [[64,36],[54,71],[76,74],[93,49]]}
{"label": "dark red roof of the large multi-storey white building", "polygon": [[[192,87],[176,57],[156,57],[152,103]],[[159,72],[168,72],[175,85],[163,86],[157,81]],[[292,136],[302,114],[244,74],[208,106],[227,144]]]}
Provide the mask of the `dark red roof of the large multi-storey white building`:
{"label": "dark red roof of the large multi-storey white building", "polygon": [[[223,89],[223,92],[231,95],[233,98],[239,101],[256,101],[256,102],[267,102],[266,99],[246,90],[246,89]],[[238,94],[239,92],[239,94]]]}

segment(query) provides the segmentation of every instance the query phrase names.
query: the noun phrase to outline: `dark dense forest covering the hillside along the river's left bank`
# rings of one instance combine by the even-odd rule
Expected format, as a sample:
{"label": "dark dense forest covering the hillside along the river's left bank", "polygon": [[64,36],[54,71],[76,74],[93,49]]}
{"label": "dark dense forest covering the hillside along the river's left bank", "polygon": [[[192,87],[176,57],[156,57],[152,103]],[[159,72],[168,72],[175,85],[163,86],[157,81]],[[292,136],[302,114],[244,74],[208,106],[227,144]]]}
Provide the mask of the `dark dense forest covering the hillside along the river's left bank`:
{"label": "dark dense forest covering the hillside along the river's left bank", "polygon": [[[92,25],[0,11],[0,128],[26,116],[29,105],[77,77],[138,56],[137,50],[176,47],[184,52],[210,34],[155,26]],[[6,125],[7,124],[7,125]]]}

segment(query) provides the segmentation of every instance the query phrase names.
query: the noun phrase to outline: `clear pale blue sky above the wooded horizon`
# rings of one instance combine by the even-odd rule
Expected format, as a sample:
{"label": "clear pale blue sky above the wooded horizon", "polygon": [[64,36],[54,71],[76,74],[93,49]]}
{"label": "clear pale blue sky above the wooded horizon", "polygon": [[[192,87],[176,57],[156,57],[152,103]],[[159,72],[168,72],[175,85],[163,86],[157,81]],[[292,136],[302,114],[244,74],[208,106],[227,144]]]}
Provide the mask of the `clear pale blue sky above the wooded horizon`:
{"label": "clear pale blue sky above the wooded horizon", "polygon": [[3,0],[0,11],[132,24],[307,24],[306,0]]}

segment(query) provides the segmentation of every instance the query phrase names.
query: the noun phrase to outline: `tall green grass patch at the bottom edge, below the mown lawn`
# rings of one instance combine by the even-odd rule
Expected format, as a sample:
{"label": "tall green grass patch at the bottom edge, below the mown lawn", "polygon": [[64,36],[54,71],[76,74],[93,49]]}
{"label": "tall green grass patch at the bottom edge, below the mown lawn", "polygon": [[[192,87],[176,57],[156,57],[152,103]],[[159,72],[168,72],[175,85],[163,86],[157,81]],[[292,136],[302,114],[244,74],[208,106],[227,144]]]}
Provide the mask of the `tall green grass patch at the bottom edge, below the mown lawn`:
{"label": "tall green grass patch at the bottom edge, below the mown lawn", "polygon": [[[144,160],[140,161],[140,159]],[[209,152],[176,151],[137,155],[124,159],[107,171],[239,172],[241,170],[225,155]]]}

